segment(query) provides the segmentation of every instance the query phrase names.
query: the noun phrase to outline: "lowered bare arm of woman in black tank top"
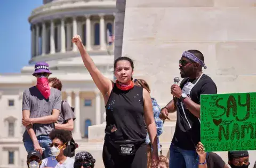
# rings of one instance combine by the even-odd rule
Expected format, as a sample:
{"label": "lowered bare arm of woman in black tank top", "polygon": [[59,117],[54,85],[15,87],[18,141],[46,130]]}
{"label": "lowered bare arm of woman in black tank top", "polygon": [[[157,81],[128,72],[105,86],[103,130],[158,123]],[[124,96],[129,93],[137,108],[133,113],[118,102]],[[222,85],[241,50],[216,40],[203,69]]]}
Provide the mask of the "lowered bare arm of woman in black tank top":
{"label": "lowered bare arm of woman in black tank top", "polygon": [[146,89],[143,89],[143,99],[144,99],[144,117],[145,123],[147,125],[149,139],[151,145],[153,146],[152,155],[154,157],[154,161],[152,159],[152,167],[156,167],[158,165],[158,149],[157,149],[157,131],[156,131],[156,123],[154,119],[153,106],[150,95]]}

